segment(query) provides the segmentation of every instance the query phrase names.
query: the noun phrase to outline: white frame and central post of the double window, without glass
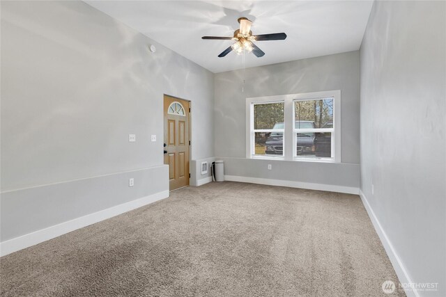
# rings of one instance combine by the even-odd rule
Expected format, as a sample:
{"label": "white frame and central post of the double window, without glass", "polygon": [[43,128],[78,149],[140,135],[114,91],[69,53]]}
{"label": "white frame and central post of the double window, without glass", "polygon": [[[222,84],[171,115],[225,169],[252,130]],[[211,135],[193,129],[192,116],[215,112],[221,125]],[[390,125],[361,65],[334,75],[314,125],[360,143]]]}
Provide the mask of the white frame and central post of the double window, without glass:
{"label": "white frame and central post of the double window, without glass", "polygon": [[[294,102],[333,98],[333,128],[311,129],[311,132],[332,133],[332,158],[301,158],[295,154],[296,134],[305,132],[295,129]],[[284,102],[284,156],[260,156],[254,154],[254,104]],[[326,130],[326,131],[325,131]],[[261,130],[255,130],[259,132]],[[263,131],[263,130],[262,130]],[[270,131],[270,130],[268,130]],[[272,131],[272,130],[271,130]],[[293,137],[289,137],[289,136]],[[288,137],[287,137],[288,136]],[[341,163],[341,90],[328,90],[312,93],[277,95],[246,98],[246,157],[247,159],[282,159],[286,161]]]}

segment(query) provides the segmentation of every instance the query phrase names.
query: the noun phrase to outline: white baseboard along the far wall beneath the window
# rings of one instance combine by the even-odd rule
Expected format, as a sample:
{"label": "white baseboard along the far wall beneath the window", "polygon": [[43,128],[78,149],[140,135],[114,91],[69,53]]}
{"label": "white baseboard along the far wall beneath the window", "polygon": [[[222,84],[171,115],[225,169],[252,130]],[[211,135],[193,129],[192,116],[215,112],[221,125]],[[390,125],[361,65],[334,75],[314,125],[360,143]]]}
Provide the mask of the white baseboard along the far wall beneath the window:
{"label": "white baseboard along the far wall beneath the window", "polygon": [[351,186],[334,186],[332,184],[314,184],[310,182],[294,182],[282,179],[264,179],[258,177],[240,177],[236,175],[224,175],[224,180],[231,182],[249,182],[252,184],[268,184],[270,186],[289,186],[291,188],[307,188],[309,190],[330,191],[337,193],[359,194],[359,188]]}

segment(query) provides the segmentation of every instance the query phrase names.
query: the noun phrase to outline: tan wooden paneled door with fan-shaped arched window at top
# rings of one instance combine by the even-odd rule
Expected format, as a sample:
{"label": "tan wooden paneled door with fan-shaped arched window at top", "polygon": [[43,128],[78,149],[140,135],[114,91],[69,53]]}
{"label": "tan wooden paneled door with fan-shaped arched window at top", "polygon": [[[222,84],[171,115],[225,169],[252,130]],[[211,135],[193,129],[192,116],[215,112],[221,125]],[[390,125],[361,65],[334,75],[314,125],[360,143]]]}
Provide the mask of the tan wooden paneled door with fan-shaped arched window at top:
{"label": "tan wooden paneled door with fan-shaped arched window at top", "polygon": [[189,186],[190,102],[164,95],[164,164],[169,190]]}

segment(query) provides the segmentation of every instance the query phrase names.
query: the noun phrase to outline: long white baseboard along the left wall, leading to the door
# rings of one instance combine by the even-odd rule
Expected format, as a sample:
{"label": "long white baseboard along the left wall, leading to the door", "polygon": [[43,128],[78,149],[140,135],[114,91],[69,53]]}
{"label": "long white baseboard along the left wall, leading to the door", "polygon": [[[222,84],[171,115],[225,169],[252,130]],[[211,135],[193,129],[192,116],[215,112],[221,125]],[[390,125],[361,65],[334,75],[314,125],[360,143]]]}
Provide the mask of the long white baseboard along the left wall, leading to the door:
{"label": "long white baseboard along the left wall, leading to the door", "polygon": [[68,220],[67,222],[60,223],[51,227],[47,227],[36,232],[25,234],[22,236],[15,237],[14,239],[9,239],[0,243],[0,256],[8,255],[11,252],[16,252],[17,250],[22,250],[30,246],[34,246],[43,241],[53,239],[54,237],[61,236],[68,232],[86,227],[88,225],[98,223],[101,220],[106,220],[107,218],[112,218],[113,216],[118,216],[118,214],[123,214],[127,211],[137,209],[146,204],[151,204],[158,200],[169,197],[169,191],[162,191],[152,195],[148,195],[137,200],[132,200],[130,202],[125,202],[123,204],[104,209],[93,214],[87,214],[86,216],[81,216],[80,218],[75,218]]}

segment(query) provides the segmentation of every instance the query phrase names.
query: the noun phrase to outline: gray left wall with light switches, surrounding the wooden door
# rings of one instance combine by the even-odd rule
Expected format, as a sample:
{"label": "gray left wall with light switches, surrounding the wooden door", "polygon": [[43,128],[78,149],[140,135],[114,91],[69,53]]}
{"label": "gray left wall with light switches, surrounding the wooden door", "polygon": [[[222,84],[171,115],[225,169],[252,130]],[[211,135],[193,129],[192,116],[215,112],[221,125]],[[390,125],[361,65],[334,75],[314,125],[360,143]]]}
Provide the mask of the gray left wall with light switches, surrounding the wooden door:
{"label": "gray left wall with light switches, surrounding the wooden door", "polygon": [[[152,169],[164,93],[192,101],[192,159],[214,156],[211,72],[82,1],[1,1],[1,240],[168,189]],[[122,172],[134,170],[144,173],[129,188]],[[53,219],[38,215],[45,207]]]}

